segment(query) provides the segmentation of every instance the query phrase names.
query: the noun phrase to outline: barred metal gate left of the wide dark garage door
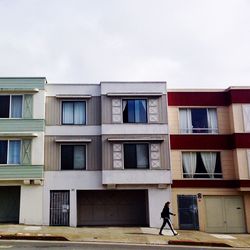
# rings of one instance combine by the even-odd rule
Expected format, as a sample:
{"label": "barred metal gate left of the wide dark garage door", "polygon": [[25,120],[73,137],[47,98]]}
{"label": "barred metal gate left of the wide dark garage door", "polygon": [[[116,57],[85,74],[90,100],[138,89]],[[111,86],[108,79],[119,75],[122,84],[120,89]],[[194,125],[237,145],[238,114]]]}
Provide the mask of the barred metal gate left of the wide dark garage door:
{"label": "barred metal gate left of the wide dark garage door", "polygon": [[50,191],[50,225],[69,226],[69,191]]}

